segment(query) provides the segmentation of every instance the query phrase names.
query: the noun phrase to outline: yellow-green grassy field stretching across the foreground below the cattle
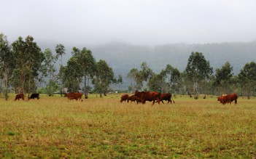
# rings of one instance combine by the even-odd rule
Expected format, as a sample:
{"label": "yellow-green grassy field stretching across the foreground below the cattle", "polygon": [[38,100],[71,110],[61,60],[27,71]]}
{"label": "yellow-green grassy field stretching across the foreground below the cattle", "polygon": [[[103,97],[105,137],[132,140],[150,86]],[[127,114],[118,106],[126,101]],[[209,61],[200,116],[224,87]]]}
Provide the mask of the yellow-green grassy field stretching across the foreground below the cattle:
{"label": "yellow-green grassy field stretching across the foreground below the cattle", "polygon": [[256,158],[256,99],[0,99],[0,158]]}

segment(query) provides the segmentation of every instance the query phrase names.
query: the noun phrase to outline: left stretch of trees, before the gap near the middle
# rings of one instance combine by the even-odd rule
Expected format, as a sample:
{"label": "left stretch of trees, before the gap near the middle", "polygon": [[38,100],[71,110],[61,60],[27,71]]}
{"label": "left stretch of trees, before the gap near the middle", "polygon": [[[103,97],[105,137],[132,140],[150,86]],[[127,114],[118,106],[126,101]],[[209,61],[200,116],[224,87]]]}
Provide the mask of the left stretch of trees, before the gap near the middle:
{"label": "left stretch of trees, before the gap near the middle", "polygon": [[[45,91],[49,96],[53,92],[68,88],[69,92],[83,90],[85,98],[92,83],[94,91],[106,94],[110,84],[123,83],[123,78],[115,74],[104,60],[96,62],[92,52],[85,47],[73,47],[72,56],[63,66],[62,57],[65,52],[63,44],[55,46],[55,54],[51,49],[42,49],[32,36],[18,37],[9,44],[7,36],[0,34],[0,91],[8,99],[9,90],[17,94],[29,94],[38,91],[40,83],[46,83]],[[60,60],[60,69],[56,63]],[[80,87],[83,81],[83,88]]]}

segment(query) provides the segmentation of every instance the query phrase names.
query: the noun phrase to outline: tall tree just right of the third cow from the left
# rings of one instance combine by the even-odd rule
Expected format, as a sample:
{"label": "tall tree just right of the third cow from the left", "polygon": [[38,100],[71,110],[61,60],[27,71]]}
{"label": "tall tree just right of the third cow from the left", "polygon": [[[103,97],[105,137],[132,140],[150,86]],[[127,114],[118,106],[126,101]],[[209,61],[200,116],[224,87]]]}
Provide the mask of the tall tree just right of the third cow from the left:
{"label": "tall tree just right of the third cow from the left", "polygon": [[78,64],[82,68],[83,77],[84,77],[84,91],[85,91],[85,99],[88,99],[88,82],[90,78],[93,78],[96,71],[96,60],[93,57],[90,49],[86,49],[85,47],[82,50],[73,48],[73,52],[71,52],[73,57],[77,60]]}

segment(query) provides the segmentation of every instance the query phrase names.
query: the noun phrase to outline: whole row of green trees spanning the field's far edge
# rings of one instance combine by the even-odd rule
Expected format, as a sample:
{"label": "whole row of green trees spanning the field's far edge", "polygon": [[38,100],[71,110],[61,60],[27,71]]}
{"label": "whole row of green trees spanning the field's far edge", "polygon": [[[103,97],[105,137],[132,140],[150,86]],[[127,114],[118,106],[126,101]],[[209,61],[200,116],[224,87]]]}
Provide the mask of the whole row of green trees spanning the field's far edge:
{"label": "whole row of green trees spanning the field's far edge", "polygon": [[[53,92],[68,88],[69,92],[83,90],[85,98],[88,92],[106,94],[112,84],[121,85],[123,77],[117,76],[104,60],[98,62],[90,49],[73,47],[71,57],[63,66],[63,55],[66,49],[63,44],[55,46],[55,54],[51,49],[42,49],[32,36],[18,37],[9,44],[7,36],[0,34],[0,91],[8,99],[9,90],[15,93],[29,94],[37,92],[40,83],[45,83],[44,91],[52,96]],[[59,61],[59,62],[58,62]],[[57,63],[60,68],[57,72]],[[213,69],[203,53],[192,52],[187,60],[187,67],[180,72],[170,64],[154,73],[146,62],[141,68],[132,68],[126,78],[129,79],[127,91],[159,91],[173,94],[229,94],[236,92],[251,97],[256,91],[256,64],[244,65],[237,76],[233,75],[233,67],[225,62],[222,68]],[[81,83],[82,87],[81,88]]]}

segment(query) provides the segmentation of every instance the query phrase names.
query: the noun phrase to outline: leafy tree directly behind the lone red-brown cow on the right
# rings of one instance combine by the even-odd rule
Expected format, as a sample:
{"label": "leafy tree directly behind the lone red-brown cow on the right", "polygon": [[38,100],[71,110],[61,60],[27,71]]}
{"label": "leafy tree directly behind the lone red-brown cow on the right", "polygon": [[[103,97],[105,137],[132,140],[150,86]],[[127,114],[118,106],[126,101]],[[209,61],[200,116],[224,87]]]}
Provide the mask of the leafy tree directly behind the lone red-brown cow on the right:
{"label": "leafy tree directly behind the lone red-brown cow on the right", "polygon": [[230,65],[229,62],[225,62],[225,64],[222,66],[222,68],[216,69],[216,81],[215,86],[219,88],[219,93],[228,93],[228,89],[230,87],[231,78],[233,77],[233,67]]}

